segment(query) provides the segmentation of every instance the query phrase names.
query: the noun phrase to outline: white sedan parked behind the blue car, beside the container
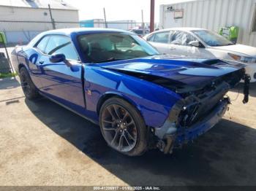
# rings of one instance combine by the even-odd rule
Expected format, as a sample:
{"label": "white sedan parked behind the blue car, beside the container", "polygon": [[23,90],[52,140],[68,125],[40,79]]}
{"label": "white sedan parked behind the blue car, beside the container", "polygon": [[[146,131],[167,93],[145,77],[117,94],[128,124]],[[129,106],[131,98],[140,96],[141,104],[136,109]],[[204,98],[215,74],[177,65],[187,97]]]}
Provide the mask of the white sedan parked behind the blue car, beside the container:
{"label": "white sedan parked behind the blue car, beside the container", "polygon": [[246,64],[251,82],[256,82],[256,48],[233,44],[203,28],[168,28],[143,37],[160,53],[193,58],[218,58]]}

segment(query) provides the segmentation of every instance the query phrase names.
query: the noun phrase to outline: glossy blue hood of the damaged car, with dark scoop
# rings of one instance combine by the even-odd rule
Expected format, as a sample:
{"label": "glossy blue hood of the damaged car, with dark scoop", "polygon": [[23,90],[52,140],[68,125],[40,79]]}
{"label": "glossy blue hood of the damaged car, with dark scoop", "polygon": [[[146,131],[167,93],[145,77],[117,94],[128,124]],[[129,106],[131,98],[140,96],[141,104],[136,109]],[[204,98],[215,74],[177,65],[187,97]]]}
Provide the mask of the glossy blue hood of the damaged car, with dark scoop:
{"label": "glossy blue hood of the damaged car, with dark scoop", "polygon": [[168,56],[153,56],[103,63],[101,67],[135,77],[170,79],[176,85],[202,86],[217,77],[230,74],[241,69],[220,60],[172,58]]}

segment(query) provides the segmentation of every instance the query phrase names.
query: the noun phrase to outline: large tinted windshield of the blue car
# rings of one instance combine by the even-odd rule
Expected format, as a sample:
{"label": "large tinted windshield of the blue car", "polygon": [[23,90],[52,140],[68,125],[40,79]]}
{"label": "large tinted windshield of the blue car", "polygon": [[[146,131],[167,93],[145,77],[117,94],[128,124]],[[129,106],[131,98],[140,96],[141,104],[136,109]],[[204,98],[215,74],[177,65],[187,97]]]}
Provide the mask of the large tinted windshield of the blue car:
{"label": "large tinted windshield of the blue car", "polygon": [[159,54],[144,39],[131,34],[86,34],[79,36],[78,42],[89,63],[118,61]]}

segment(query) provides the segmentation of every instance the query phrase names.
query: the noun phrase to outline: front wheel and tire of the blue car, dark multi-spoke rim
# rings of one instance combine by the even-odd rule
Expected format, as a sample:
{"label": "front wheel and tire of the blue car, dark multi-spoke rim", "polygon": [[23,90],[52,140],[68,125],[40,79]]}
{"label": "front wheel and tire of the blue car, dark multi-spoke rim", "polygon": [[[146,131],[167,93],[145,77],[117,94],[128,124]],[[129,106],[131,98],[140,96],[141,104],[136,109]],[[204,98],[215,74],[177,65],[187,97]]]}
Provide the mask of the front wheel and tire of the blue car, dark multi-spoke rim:
{"label": "front wheel and tire of the blue car, dark multi-spoke rim", "polygon": [[105,101],[99,111],[99,125],[105,141],[116,151],[129,156],[146,152],[148,133],[145,122],[127,101],[117,97]]}

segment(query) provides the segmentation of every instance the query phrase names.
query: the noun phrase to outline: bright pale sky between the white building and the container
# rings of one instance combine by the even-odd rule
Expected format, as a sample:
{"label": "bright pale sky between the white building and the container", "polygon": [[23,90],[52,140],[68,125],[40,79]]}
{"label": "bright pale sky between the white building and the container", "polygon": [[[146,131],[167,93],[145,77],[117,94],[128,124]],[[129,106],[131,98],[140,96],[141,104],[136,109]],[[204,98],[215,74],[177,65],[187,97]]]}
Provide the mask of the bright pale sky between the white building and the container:
{"label": "bright pale sky between the white building and the container", "polygon": [[[89,20],[104,18],[105,7],[107,20],[136,20],[141,22],[143,9],[144,21],[150,20],[150,0],[64,0],[79,9],[79,19]],[[159,23],[159,5],[187,0],[155,0],[155,22]]]}

